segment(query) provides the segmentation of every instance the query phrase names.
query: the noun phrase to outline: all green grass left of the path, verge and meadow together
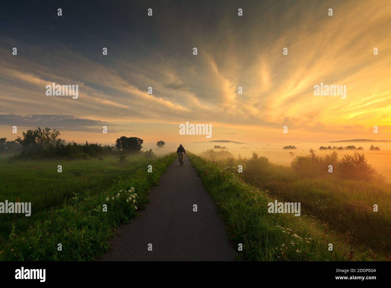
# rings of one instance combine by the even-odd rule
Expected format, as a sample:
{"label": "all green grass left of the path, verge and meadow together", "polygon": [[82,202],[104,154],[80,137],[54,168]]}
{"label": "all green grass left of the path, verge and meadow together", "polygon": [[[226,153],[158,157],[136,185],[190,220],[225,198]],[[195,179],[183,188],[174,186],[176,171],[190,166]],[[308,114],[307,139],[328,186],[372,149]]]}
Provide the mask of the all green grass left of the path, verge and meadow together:
{"label": "all green grass left of the path, verge and meadow together", "polygon": [[[145,207],[149,188],[174,158],[175,154],[152,161],[129,156],[123,165],[113,157],[2,161],[0,199],[32,202],[32,214],[1,215],[0,260],[93,259],[108,249],[113,228]],[[152,173],[147,172],[149,164]],[[62,165],[62,173],[57,165]],[[107,212],[102,211],[103,205]],[[64,247],[61,252],[58,243]]]}

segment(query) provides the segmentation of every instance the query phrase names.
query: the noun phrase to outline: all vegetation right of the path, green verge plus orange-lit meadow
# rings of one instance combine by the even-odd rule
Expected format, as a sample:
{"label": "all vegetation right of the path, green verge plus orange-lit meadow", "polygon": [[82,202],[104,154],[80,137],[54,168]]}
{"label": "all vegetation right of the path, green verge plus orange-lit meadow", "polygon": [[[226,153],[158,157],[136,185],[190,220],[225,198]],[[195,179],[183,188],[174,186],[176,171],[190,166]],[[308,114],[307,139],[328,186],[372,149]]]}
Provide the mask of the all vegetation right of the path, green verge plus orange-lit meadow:
{"label": "all vegetation right of the path, green verge plus orange-lit meadow", "polygon": [[[306,161],[317,156],[307,157],[296,157],[292,167],[282,167],[269,163],[267,158],[259,157],[256,153],[251,159],[229,158],[225,162],[189,154],[229,227],[231,241],[235,247],[243,244],[244,259],[386,259],[390,235],[389,184],[339,177],[323,178],[322,174],[314,178],[314,174],[305,176],[297,173],[299,163],[306,163],[303,164],[305,166],[308,164]],[[346,161],[351,163],[350,160],[345,158],[341,165],[345,165]],[[314,163],[317,161],[314,160]],[[238,165],[243,166],[243,173],[238,173]],[[309,168],[306,171],[312,173]],[[370,169],[368,171],[378,179],[377,174],[371,173]],[[346,176],[350,177],[351,174]],[[301,216],[269,214],[268,203],[274,203],[275,199],[301,202]],[[384,209],[382,213],[370,212],[373,211],[374,201]],[[366,212],[363,212],[361,205],[365,205]],[[329,250],[330,243],[333,245],[332,251]],[[371,247],[375,247],[376,252]]]}

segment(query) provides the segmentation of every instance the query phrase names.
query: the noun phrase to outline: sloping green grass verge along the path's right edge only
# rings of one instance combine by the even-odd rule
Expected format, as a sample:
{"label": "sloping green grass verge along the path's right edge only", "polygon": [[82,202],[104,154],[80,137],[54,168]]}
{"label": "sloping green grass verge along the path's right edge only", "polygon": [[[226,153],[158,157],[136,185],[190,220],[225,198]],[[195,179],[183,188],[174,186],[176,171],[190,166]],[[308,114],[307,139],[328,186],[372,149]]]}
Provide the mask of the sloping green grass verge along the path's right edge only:
{"label": "sloping green grass verge along the path's right edge only", "polygon": [[269,214],[267,204],[276,198],[267,191],[245,183],[240,175],[231,169],[224,170],[217,163],[194,154],[189,154],[189,158],[228,224],[231,241],[243,245],[244,259],[355,261],[385,258],[366,245],[353,246],[348,235],[303,212],[300,217]]}

